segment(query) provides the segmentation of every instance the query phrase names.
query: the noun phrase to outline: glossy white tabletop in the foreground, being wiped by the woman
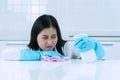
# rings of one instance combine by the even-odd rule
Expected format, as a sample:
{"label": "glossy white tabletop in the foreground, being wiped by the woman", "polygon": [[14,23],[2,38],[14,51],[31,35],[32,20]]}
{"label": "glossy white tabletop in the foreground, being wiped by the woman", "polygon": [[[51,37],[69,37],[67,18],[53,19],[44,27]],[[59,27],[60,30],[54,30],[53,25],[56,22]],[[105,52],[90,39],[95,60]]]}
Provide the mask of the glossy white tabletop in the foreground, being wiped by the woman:
{"label": "glossy white tabletop in the foreground, being wiped by the woman", "polygon": [[120,80],[120,60],[83,63],[0,60],[0,80]]}

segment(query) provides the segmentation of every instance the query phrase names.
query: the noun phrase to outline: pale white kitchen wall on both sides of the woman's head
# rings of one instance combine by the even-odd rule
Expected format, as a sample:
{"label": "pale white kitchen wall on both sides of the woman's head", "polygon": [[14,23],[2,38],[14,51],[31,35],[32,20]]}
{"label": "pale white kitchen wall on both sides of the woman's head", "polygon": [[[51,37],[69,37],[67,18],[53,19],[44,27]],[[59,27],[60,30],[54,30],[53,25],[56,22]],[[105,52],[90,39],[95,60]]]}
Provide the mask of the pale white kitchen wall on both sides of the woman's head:
{"label": "pale white kitchen wall on both sides of the woman's head", "polygon": [[[29,22],[26,12],[30,6],[15,12],[7,8],[7,1],[0,1],[0,40],[29,40],[33,22]],[[29,4],[31,0],[21,1]],[[52,14],[57,18],[64,38],[77,33],[88,33],[90,36],[120,36],[119,0],[44,1],[47,2],[47,11],[43,13]]]}

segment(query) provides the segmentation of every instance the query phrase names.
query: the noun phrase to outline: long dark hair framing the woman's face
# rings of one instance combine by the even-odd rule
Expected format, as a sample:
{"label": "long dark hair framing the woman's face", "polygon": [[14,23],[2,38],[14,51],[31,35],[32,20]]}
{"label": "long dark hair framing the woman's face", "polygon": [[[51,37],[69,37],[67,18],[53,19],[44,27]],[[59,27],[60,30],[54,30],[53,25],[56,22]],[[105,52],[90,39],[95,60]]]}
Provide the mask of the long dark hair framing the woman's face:
{"label": "long dark hair framing the woman's face", "polygon": [[50,28],[50,27],[56,29],[58,36],[56,49],[60,54],[64,55],[64,53],[62,52],[62,47],[64,46],[66,41],[62,39],[58,22],[55,19],[55,17],[53,17],[52,15],[44,14],[36,19],[31,30],[31,39],[30,39],[30,43],[28,44],[28,47],[33,50],[39,50],[40,47],[38,46],[37,43],[37,35],[45,28]]}

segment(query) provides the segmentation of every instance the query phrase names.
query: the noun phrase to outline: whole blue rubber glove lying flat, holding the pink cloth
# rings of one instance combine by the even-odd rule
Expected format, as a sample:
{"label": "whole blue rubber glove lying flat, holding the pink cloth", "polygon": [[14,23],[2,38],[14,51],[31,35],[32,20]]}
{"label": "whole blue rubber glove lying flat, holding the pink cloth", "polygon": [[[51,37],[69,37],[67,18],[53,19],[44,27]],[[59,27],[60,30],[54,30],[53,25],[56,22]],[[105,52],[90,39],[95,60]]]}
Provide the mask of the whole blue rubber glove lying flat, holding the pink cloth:
{"label": "whole blue rubber glove lying flat, holding the pink cloth", "polygon": [[41,60],[44,56],[53,57],[57,56],[60,59],[63,59],[64,56],[56,51],[34,51],[34,50],[21,50],[20,60],[24,61],[33,61]]}

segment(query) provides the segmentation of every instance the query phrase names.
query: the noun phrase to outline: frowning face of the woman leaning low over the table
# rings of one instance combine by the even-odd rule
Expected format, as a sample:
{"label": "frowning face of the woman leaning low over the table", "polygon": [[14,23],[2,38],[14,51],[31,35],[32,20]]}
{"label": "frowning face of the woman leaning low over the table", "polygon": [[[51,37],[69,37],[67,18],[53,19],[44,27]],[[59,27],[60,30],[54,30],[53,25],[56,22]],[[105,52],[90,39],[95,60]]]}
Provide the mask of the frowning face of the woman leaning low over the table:
{"label": "frowning face of the woman leaning low over the table", "polygon": [[37,36],[37,42],[42,50],[53,50],[57,44],[57,31],[53,27],[46,28]]}

